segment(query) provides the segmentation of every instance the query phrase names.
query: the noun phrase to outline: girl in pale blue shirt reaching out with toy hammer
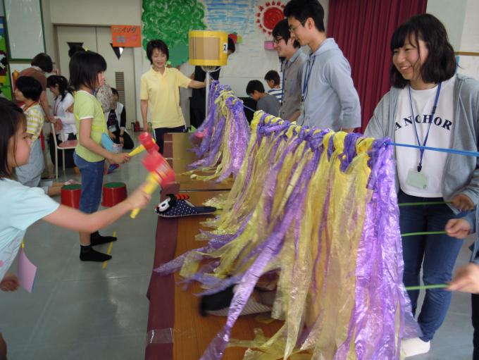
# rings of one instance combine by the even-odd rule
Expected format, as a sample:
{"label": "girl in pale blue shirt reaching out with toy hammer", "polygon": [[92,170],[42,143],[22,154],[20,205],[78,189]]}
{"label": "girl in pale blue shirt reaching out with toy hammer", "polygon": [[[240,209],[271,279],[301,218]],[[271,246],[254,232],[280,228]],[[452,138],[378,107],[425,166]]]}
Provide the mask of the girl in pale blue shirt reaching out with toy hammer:
{"label": "girl in pale blue shirt reaching out with toy hammer", "polygon": [[[36,187],[21,185],[11,178],[13,168],[25,165],[30,158],[27,120],[18,106],[6,99],[0,99],[0,116],[0,290],[14,291],[18,288],[18,279],[8,268],[30,225],[42,219],[62,228],[89,233],[113,223],[132,209],[144,208],[151,197],[136,190],[120,204],[88,215],[58,204]],[[0,358],[6,359],[6,344],[1,335]]]}

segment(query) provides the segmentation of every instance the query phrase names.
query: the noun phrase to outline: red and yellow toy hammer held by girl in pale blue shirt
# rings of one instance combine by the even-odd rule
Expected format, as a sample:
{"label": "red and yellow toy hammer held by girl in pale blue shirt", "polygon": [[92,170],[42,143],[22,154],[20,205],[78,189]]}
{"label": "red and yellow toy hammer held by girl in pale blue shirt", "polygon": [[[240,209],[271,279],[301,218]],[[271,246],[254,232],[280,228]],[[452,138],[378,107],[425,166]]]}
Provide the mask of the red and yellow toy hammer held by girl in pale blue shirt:
{"label": "red and yellow toy hammer held by girl in pale blue shirt", "polygon": [[[158,185],[166,187],[171,182],[175,181],[175,172],[170,164],[157,151],[147,154],[142,159],[143,166],[149,171],[147,176],[147,185],[143,191],[151,195],[156,190]],[[130,214],[131,218],[136,218],[139,209],[134,209]]]}

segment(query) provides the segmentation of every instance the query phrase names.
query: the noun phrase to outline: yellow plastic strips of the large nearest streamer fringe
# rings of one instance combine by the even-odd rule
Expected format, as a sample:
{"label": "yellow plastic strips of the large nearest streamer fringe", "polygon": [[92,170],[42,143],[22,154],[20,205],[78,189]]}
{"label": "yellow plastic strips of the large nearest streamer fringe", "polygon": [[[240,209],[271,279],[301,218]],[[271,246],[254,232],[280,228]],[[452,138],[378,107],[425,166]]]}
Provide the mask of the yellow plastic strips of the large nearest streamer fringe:
{"label": "yellow plastic strips of the large nearest streamer fringe", "polygon": [[[213,228],[211,235],[235,234],[250,216],[243,232],[207,255],[220,259],[218,268],[210,274],[216,278],[243,273],[251,266],[256,257],[246,261],[247,256],[273,232],[275,218],[285,212],[287,199],[305,166],[312,161],[315,151],[320,151],[313,151],[308,148],[309,144],[301,142],[294,151],[287,152],[292,142],[297,141],[295,134],[301,128],[290,125],[284,131],[286,136],[282,137],[259,135],[256,128],[261,116],[261,111],[256,112],[251,122],[247,156],[232,190],[227,197],[216,197],[206,203],[223,209],[216,219],[205,222]],[[282,121],[268,116],[265,123],[280,124]],[[293,221],[280,254],[263,271],[278,271],[271,316],[284,319],[285,324],[270,339],[256,331],[252,341],[230,341],[229,346],[249,347],[244,354],[246,360],[333,359],[338,347],[347,340],[349,320],[354,310],[355,298],[351,292],[354,292],[356,281],[357,249],[366,203],[371,197],[371,190],[366,185],[371,173],[368,151],[373,139],[359,140],[356,156],[346,170],[341,170],[346,135],[344,132],[329,132],[323,137],[321,159],[302,190],[306,192],[303,216],[297,220],[299,223]],[[328,156],[330,139],[335,151]],[[276,175],[270,218],[265,218],[264,206],[268,199],[265,184],[280,159],[283,163]],[[251,174],[249,182],[248,173]],[[298,237],[296,247],[295,235]],[[207,239],[208,235],[202,238]],[[192,253],[187,257],[181,275],[193,275],[197,268],[198,260]],[[311,331],[298,348],[299,335],[305,326]],[[347,359],[356,359],[354,346],[349,347]]]}

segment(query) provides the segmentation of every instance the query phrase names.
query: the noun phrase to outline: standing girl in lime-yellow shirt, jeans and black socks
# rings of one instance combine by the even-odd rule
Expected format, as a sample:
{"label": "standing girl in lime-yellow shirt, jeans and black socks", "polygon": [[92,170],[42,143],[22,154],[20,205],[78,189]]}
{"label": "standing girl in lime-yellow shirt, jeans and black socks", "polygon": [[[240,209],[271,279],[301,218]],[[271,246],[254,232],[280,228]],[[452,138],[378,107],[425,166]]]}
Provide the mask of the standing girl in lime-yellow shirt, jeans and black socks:
{"label": "standing girl in lime-yellow shirt, jeans and black socks", "polygon": [[[78,51],[70,59],[70,86],[75,93],[75,124],[77,127],[77,147],[75,165],[82,174],[82,194],[79,209],[85,213],[98,210],[103,185],[104,161],[125,163],[128,154],[113,154],[106,148],[113,142],[106,133],[106,124],[101,104],[94,97],[95,89],[104,85],[106,61],[103,56],[92,51]],[[97,252],[92,245],[115,241],[116,237],[101,236],[99,232],[80,231],[80,260],[106,261],[110,255]]]}

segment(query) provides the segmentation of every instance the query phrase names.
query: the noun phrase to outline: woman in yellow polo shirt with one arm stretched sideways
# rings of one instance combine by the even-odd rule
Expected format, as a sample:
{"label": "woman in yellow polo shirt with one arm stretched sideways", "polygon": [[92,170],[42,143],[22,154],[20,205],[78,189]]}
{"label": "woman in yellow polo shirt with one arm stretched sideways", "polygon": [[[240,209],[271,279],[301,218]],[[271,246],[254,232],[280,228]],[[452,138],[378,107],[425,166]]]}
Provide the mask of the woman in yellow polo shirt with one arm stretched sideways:
{"label": "woman in yellow polo shirt with one arm stretched sideways", "polygon": [[163,154],[163,135],[166,132],[185,132],[186,123],[180,108],[180,87],[201,89],[204,82],[191,80],[175,68],[166,68],[170,56],[168,46],[162,40],[147,44],[147,56],[151,69],[142,75],[140,100],[143,128],[148,128],[148,108],[151,113],[156,143]]}

